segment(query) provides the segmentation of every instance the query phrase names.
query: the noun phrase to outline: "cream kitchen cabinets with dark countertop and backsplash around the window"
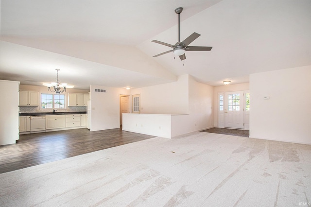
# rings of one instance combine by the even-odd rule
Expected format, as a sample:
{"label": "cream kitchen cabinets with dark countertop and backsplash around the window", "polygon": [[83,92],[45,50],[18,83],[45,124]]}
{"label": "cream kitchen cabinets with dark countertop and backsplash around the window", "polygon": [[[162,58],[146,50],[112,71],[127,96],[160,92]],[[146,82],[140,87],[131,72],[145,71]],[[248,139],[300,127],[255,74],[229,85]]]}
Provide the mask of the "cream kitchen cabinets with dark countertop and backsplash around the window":
{"label": "cream kitchen cabinets with dark countertop and backsplash around the window", "polygon": [[67,93],[66,106],[50,110],[42,109],[38,91],[20,89],[19,94],[19,134],[87,127],[89,93]]}

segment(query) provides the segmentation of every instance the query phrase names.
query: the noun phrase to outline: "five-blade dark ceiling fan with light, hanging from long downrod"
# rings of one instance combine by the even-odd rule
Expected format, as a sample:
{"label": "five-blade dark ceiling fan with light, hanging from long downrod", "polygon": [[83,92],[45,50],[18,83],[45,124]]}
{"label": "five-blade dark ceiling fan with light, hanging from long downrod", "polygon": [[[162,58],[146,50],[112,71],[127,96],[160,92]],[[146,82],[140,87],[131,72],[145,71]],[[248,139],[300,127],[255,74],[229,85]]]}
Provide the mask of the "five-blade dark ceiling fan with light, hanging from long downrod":
{"label": "five-blade dark ceiling fan with light, hanging from long downrod", "polygon": [[200,34],[197,34],[197,33],[192,33],[192,35],[187,37],[184,41],[182,41],[182,42],[180,41],[180,17],[179,17],[179,15],[182,11],[183,11],[182,7],[178,7],[177,9],[175,9],[175,13],[178,14],[178,42],[176,42],[175,45],[171,45],[171,44],[168,44],[165,42],[152,40],[152,42],[173,48],[173,50],[170,50],[167,52],[162,52],[160,54],[155,55],[154,57],[157,57],[157,56],[160,56],[162,54],[169,53],[169,52],[173,52],[175,55],[179,56],[180,60],[185,60],[186,59],[186,55],[185,55],[186,51],[210,51],[212,49],[212,47],[188,46],[191,42],[193,42],[196,38],[198,38],[200,36]]}

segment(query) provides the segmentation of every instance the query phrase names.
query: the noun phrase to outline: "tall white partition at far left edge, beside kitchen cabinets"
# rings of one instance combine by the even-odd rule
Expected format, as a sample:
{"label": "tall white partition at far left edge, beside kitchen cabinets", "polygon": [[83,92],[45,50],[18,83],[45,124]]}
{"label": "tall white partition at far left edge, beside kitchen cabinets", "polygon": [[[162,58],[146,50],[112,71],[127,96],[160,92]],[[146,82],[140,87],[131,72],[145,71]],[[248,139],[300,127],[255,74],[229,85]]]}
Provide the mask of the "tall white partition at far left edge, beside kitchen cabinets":
{"label": "tall white partition at far left edge, beside kitchen cabinets", "polygon": [[19,139],[18,86],[17,81],[0,80],[0,145],[15,144]]}

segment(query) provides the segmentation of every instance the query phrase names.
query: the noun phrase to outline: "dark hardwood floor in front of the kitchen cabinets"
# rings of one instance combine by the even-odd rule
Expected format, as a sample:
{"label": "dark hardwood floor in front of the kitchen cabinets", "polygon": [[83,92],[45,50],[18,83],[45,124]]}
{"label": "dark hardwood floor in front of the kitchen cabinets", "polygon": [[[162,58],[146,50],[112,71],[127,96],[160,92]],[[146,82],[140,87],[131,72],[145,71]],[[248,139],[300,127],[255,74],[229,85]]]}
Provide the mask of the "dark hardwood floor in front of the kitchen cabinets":
{"label": "dark hardwood floor in front of the kitchen cabinets", "polygon": [[0,173],[128,144],[154,136],[120,129],[72,129],[20,135],[17,144],[0,146]]}

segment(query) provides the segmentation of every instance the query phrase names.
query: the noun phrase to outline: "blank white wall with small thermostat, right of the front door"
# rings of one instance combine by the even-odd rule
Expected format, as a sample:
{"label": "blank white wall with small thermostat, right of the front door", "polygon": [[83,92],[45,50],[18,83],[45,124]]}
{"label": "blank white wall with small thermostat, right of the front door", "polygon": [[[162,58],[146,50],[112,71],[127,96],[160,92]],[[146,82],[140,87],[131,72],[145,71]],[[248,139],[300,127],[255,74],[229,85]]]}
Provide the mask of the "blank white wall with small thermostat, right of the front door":
{"label": "blank white wall with small thermostat, right of the front door", "polygon": [[311,66],[251,74],[250,138],[311,144],[310,80]]}

